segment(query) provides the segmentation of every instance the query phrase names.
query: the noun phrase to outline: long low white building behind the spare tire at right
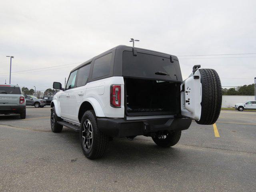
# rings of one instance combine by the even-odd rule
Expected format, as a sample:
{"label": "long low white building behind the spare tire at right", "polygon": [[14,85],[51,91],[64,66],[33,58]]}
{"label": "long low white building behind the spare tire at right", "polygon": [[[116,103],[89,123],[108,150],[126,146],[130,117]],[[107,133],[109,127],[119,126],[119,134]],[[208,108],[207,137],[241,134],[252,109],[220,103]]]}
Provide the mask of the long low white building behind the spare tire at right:
{"label": "long low white building behind the spare tire at right", "polygon": [[221,107],[232,108],[236,103],[244,103],[246,101],[254,101],[254,96],[246,95],[222,95]]}

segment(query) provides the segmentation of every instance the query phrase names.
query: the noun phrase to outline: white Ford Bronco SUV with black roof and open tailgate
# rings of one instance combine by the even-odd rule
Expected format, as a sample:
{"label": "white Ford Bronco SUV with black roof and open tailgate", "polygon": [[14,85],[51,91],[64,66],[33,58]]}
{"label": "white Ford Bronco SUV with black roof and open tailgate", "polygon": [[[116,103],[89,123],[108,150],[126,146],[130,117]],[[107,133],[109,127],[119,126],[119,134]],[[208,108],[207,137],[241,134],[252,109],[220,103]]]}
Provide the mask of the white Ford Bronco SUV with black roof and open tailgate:
{"label": "white Ford Bronco SUV with black roof and open tailgate", "polygon": [[52,132],[80,132],[87,158],[101,157],[113,137],[152,137],[161,147],[177,144],[191,121],[214,124],[222,90],[213,69],[196,65],[182,80],[174,55],[117,46],[74,68],[51,102]]}

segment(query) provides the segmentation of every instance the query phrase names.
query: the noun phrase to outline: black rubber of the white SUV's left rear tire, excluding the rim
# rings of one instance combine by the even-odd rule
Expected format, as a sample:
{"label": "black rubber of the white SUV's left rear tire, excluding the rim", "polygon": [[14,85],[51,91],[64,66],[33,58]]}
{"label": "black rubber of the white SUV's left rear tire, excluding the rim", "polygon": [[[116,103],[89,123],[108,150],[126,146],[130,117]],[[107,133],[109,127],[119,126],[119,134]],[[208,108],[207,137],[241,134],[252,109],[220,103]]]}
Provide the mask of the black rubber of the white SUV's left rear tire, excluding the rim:
{"label": "black rubber of the white SUV's left rear tire, excluding the rim", "polygon": [[[89,149],[86,148],[84,142],[85,138],[83,138],[83,131],[84,131],[84,123],[88,120],[92,125],[92,144]],[[109,136],[102,133],[98,129],[97,125],[97,117],[94,113],[94,110],[88,110],[84,113],[81,124],[80,124],[80,144],[82,147],[82,151],[84,155],[89,159],[96,159],[100,158],[106,152],[108,147]]]}

